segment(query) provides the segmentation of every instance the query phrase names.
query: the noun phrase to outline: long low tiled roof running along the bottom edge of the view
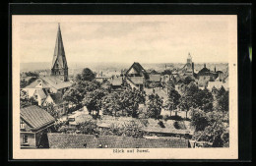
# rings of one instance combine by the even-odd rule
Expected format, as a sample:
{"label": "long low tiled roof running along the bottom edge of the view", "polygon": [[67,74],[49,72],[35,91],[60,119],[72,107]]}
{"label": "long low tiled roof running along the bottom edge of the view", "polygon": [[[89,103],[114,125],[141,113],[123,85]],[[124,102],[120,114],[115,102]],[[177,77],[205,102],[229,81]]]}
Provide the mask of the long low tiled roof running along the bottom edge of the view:
{"label": "long low tiled roof running along the bottom edge of the view", "polygon": [[[188,148],[189,141],[179,138],[130,138],[115,136],[47,134],[50,148]],[[86,147],[85,147],[86,144]]]}

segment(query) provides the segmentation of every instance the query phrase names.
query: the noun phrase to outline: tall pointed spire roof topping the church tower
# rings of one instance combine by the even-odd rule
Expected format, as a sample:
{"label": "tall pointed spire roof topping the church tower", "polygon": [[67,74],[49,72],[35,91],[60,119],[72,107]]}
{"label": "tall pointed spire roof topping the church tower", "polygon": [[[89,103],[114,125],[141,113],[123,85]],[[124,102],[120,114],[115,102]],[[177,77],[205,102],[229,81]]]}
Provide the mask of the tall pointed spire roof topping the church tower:
{"label": "tall pointed spire roof topping the church tower", "polygon": [[56,38],[56,44],[55,44],[51,68],[60,68],[60,69],[68,68],[60,26],[58,26],[58,32],[57,32],[57,38]]}

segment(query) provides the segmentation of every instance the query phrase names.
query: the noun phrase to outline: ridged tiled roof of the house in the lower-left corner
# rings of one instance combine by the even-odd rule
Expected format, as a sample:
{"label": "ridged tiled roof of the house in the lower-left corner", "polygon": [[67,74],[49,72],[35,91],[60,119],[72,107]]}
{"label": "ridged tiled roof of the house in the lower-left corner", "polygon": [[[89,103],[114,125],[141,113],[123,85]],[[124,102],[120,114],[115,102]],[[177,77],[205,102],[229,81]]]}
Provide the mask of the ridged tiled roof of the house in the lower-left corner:
{"label": "ridged tiled roof of the house in the lower-left corner", "polygon": [[55,122],[55,119],[47,111],[35,105],[22,108],[20,115],[32,127],[32,130],[38,130]]}

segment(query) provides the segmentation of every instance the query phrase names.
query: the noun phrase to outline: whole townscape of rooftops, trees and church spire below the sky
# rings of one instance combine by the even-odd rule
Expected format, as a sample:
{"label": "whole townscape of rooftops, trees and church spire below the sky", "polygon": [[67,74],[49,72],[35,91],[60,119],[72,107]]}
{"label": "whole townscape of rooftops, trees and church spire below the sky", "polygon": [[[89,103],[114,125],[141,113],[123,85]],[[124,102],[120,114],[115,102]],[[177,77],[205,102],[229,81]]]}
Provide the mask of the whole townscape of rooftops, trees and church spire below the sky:
{"label": "whole townscape of rooftops, trees and church spire below the sky", "polygon": [[21,64],[21,148],[229,146],[228,63],[69,63],[55,33],[49,67]]}

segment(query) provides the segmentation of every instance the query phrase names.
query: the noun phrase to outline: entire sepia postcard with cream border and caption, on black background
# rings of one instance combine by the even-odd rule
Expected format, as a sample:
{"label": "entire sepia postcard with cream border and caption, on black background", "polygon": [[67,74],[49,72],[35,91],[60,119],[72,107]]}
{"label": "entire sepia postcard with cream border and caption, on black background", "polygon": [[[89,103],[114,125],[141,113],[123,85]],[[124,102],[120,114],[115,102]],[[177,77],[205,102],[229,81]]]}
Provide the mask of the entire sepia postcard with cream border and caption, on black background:
{"label": "entire sepia postcard with cream border and caption, on black background", "polygon": [[12,20],[14,157],[237,158],[235,15]]}

